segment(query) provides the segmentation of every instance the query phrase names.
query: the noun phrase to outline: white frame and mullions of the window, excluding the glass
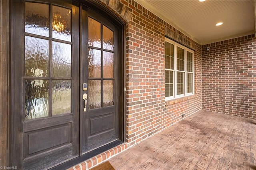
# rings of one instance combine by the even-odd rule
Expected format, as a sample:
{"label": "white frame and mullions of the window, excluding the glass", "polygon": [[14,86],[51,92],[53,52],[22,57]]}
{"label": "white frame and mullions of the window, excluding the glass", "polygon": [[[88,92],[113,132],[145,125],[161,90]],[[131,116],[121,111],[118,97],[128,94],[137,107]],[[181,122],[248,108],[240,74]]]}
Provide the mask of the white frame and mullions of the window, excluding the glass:
{"label": "white frame and mullions of the window, excluding the glass", "polygon": [[[174,71],[173,72],[173,96],[170,97],[165,97],[165,101],[169,101],[172,99],[178,99],[181,97],[186,97],[186,96],[190,96],[190,95],[194,95],[194,75],[195,75],[195,71],[194,71],[194,51],[189,49],[188,47],[185,47],[183,45],[181,45],[180,43],[174,42],[168,38],[165,38],[165,42],[171,43],[172,45],[174,45],[174,70],[172,69],[166,69],[164,68],[164,70],[169,70],[169,71]],[[177,70],[177,47],[180,47],[182,49],[184,49],[184,71],[179,71]],[[190,53],[192,53],[192,72],[187,71],[187,51],[189,51]],[[165,57],[165,55],[164,55]],[[177,72],[183,72],[183,94],[177,95]],[[192,73],[192,92],[191,93],[187,93],[187,74],[188,73]],[[164,81],[165,85],[166,85],[166,81]],[[166,89],[165,89],[166,90]]]}

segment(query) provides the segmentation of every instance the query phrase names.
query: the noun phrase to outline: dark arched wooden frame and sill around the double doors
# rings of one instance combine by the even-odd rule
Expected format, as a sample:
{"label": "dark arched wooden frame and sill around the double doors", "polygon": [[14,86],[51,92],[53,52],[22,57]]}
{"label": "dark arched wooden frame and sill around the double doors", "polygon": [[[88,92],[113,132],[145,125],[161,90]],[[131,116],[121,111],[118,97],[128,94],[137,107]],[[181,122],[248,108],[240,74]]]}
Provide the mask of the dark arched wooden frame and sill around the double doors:
{"label": "dark arched wooden frame and sill around the double doors", "polygon": [[[72,165],[78,164],[92,156],[100,154],[103,151],[106,151],[122,142],[126,142],[125,134],[126,134],[126,23],[121,20],[118,16],[116,16],[113,12],[111,12],[108,8],[100,4],[97,1],[76,1],[80,3],[80,10],[82,10],[82,4],[85,6],[90,6],[90,8],[96,12],[100,11],[100,14],[104,14],[104,16],[110,19],[116,26],[119,28],[120,33],[120,141],[113,142],[112,144],[107,144],[101,148],[94,150],[93,152],[88,152],[87,154],[80,155],[77,158],[74,158],[68,162],[64,162],[59,166],[53,167],[52,169],[59,169],[59,168],[68,168]],[[0,108],[1,111],[6,112],[6,114],[0,114],[0,125],[1,125],[1,143],[0,143],[0,154],[2,155],[1,158],[1,166],[12,166],[11,160],[11,146],[12,146],[12,108],[11,108],[11,97],[12,97],[12,81],[11,81],[11,56],[12,56],[12,42],[11,42],[11,1],[1,1],[0,2],[0,13],[3,14],[3,20],[0,23],[0,26],[7,34],[4,34],[2,37],[3,39],[0,40],[1,44],[0,47],[3,51],[1,53],[1,67],[2,70],[0,71],[0,80],[1,80],[1,94],[6,96],[1,97],[1,104]],[[81,35],[81,34],[80,34]],[[6,76],[7,75],[7,76]],[[4,103],[6,102],[6,103]],[[81,113],[80,113],[81,114]],[[80,119],[81,121],[81,119]],[[80,122],[81,123],[81,122]],[[5,131],[6,130],[6,131]]]}

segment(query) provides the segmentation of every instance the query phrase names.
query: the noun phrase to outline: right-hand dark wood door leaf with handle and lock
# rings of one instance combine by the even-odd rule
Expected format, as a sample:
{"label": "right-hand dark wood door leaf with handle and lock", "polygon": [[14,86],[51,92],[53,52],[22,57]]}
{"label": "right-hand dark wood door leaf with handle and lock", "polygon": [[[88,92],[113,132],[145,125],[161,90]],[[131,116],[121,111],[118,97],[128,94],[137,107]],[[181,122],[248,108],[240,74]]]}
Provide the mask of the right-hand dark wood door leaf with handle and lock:
{"label": "right-hand dark wood door leaf with handle and lock", "polygon": [[82,153],[119,139],[118,40],[119,30],[112,22],[95,11],[82,10],[81,80],[87,85],[81,92]]}

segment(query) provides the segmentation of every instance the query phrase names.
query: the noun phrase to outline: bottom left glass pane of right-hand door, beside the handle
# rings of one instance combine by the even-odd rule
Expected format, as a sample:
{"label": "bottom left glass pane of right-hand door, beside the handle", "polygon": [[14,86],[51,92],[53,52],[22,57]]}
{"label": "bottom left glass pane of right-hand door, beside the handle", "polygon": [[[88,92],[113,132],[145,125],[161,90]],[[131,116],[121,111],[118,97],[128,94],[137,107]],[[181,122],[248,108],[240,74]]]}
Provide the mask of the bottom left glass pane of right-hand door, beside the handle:
{"label": "bottom left glass pane of right-hand door, beside the handle", "polygon": [[88,90],[89,109],[101,107],[101,81],[89,80]]}

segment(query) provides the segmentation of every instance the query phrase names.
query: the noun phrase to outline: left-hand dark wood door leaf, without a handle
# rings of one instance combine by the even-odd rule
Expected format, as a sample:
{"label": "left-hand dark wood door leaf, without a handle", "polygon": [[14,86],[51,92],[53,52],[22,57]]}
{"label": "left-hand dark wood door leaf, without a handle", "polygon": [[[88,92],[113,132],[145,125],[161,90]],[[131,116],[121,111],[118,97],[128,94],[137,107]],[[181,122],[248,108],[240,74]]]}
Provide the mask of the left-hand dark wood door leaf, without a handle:
{"label": "left-hand dark wood door leaf, without a handle", "polygon": [[79,6],[11,3],[10,160],[46,169],[79,155]]}

